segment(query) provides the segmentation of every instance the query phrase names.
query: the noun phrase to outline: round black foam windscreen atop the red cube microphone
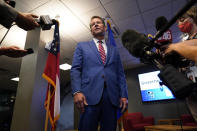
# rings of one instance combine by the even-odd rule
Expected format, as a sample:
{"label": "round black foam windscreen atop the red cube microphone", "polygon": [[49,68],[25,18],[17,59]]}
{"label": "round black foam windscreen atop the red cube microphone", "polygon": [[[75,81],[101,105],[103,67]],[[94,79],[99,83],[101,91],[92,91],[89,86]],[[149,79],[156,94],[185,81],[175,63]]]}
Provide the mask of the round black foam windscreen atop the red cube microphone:
{"label": "round black foam windscreen atop the red cube microphone", "polygon": [[155,27],[158,30],[161,30],[166,24],[168,23],[168,20],[165,16],[159,16],[155,20]]}

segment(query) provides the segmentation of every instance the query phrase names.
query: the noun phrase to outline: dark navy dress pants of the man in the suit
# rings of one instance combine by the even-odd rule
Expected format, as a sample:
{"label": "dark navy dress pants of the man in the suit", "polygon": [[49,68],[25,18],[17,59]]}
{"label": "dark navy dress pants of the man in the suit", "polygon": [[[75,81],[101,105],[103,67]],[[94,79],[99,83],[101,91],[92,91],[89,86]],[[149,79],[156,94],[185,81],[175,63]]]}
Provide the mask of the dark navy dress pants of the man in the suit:
{"label": "dark navy dress pants of the man in the suit", "polygon": [[117,107],[112,105],[107,94],[106,86],[97,105],[88,105],[80,116],[79,131],[116,131]]}

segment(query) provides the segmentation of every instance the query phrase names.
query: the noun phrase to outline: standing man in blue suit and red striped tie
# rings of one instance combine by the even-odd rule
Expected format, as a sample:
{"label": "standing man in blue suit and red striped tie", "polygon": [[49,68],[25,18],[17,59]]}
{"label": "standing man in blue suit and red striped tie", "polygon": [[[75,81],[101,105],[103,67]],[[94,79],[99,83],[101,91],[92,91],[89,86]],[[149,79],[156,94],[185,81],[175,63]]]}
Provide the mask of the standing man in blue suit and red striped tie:
{"label": "standing man in blue suit and red striped tie", "polygon": [[93,40],[80,42],[71,68],[74,103],[81,111],[79,131],[116,131],[117,109],[127,107],[128,91],[118,49],[105,41],[99,16],[90,21]]}

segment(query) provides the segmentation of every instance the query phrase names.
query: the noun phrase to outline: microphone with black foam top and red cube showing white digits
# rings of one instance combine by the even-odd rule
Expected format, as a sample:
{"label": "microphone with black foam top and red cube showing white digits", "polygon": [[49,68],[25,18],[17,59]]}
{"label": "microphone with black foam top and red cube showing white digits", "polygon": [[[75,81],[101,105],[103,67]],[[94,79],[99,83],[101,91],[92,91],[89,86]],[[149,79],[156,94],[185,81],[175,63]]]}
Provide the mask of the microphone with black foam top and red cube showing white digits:
{"label": "microphone with black foam top and red cube showing white digits", "polygon": [[[168,20],[165,16],[159,16],[155,20],[155,28],[157,32],[160,32],[160,30],[168,23]],[[161,37],[159,37],[156,40],[156,43],[158,44],[158,48],[162,45],[166,45],[169,43],[172,43],[172,32],[170,29],[168,29],[166,32],[163,33]]]}

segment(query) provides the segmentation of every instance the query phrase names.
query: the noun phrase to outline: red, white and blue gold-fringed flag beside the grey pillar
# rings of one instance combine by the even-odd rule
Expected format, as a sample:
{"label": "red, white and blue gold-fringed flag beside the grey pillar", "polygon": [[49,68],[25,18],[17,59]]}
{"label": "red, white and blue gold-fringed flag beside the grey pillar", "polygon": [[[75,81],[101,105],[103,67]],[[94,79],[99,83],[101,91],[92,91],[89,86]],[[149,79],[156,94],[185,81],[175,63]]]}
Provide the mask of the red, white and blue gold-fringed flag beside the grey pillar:
{"label": "red, white and blue gold-fringed flag beside the grey pillar", "polygon": [[48,126],[48,118],[51,123],[52,130],[56,129],[56,121],[60,117],[60,71],[59,71],[59,59],[60,59],[60,35],[59,35],[59,22],[55,24],[54,38],[50,44],[48,52],[48,58],[43,73],[43,78],[48,81],[45,109],[46,109],[46,126]]}

